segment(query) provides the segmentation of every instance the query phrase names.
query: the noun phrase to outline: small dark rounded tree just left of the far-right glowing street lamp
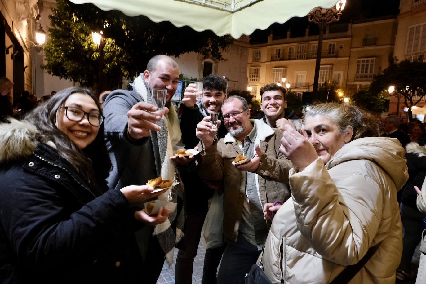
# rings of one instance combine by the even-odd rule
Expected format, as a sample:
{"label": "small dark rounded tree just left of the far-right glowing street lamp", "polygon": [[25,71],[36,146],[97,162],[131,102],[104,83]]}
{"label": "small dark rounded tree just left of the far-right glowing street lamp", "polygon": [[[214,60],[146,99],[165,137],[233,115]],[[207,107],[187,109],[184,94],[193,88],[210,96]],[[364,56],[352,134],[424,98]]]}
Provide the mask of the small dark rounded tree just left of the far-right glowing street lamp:
{"label": "small dark rounded tree just left of the far-right glowing street lamp", "polygon": [[360,89],[352,95],[351,102],[374,114],[389,110],[389,95],[386,92],[372,93],[369,88]]}

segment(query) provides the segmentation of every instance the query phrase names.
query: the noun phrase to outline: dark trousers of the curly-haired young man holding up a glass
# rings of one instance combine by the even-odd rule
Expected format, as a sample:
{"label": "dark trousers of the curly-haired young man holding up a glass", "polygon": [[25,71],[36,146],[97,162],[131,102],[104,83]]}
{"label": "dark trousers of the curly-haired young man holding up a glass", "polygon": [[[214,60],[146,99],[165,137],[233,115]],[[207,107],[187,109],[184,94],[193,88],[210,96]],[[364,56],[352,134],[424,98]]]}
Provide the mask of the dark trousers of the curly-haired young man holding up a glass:
{"label": "dark trousers of the curly-haired young man holding up a glass", "polygon": [[[198,244],[201,238],[201,229],[204,224],[205,215],[187,210],[187,227],[185,229],[185,249],[179,248],[176,258],[175,283],[191,284],[194,258],[197,256]],[[204,256],[203,284],[216,284],[216,271],[222,258],[223,247],[207,249]]]}

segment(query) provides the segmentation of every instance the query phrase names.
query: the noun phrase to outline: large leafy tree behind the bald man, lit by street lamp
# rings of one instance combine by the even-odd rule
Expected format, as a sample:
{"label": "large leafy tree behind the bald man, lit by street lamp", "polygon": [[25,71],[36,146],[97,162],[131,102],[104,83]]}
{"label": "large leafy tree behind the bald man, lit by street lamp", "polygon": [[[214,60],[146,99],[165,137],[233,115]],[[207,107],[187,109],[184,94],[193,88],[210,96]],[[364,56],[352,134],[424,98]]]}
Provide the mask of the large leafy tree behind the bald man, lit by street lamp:
{"label": "large leafy tree behind the bald man, lit by street lamp", "polygon": [[[132,79],[157,54],[177,57],[197,52],[204,58],[224,60],[221,52],[233,41],[211,31],[154,23],[145,16],[129,17],[117,10],[102,11],[92,4],[56,2],[57,8],[49,16],[50,36],[42,68],[98,91],[117,87],[122,77]],[[103,32],[99,47],[92,41],[94,31]]]}

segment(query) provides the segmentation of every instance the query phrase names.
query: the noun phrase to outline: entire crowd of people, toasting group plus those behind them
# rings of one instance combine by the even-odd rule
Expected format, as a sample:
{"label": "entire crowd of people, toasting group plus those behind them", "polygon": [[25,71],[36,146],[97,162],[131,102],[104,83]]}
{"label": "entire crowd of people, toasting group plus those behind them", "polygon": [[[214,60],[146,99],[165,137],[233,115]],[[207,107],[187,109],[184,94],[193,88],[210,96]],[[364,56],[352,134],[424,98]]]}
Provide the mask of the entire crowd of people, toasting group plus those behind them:
{"label": "entire crowd of people, toasting group plus those behind them", "polygon": [[[201,238],[203,284],[394,283],[415,277],[420,241],[426,282],[423,123],[316,103],[297,130],[282,86],[260,89],[253,118],[217,75],[174,106],[178,81],[166,55],[97,95],[12,100],[0,78],[2,283],[155,284],[177,248],[175,281],[189,284]],[[166,205],[151,214],[153,200]]]}

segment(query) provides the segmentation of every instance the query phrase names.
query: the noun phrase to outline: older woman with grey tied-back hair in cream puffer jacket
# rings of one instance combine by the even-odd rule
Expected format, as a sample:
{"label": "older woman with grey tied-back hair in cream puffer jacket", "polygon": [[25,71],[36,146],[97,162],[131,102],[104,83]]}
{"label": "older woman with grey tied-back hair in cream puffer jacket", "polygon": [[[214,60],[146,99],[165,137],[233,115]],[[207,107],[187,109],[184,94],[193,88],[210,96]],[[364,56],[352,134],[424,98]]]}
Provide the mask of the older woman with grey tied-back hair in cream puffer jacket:
{"label": "older woman with grey tied-back hair in cream puffer jacket", "polygon": [[[319,104],[305,131],[285,126],[291,198],[273,218],[262,264],[273,283],[329,283],[380,244],[350,283],[395,283],[402,250],[397,191],[408,178],[404,149],[378,136],[355,106]],[[265,205],[270,218],[271,204]]]}

